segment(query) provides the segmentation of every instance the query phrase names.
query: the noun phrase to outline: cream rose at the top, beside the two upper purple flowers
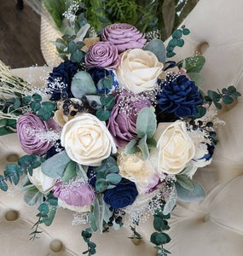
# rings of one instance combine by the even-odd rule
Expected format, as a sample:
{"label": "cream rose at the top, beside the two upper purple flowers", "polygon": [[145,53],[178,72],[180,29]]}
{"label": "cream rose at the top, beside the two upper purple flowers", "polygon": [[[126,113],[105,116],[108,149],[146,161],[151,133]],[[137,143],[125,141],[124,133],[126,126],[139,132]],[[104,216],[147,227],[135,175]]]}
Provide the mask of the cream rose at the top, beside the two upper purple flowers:
{"label": "cream rose at the top, beside the two upper purple flowers", "polygon": [[119,84],[133,93],[153,90],[164,65],[153,52],[129,49],[120,55],[121,62],[116,70]]}

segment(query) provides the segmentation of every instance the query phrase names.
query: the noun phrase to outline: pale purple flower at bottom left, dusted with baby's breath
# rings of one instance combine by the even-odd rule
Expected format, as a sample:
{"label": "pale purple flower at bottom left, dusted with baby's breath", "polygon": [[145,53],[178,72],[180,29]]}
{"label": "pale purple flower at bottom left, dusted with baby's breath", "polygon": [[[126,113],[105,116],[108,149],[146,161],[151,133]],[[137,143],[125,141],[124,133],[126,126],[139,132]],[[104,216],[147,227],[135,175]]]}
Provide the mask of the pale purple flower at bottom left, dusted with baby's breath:
{"label": "pale purple flower at bottom left, dusted with baby's breath", "polygon": [[57,181],[53,187],[53,195],[65,201],[69,206],[89,206],[95,200],[95,191],[90,184],[78,179],[68,183]]}

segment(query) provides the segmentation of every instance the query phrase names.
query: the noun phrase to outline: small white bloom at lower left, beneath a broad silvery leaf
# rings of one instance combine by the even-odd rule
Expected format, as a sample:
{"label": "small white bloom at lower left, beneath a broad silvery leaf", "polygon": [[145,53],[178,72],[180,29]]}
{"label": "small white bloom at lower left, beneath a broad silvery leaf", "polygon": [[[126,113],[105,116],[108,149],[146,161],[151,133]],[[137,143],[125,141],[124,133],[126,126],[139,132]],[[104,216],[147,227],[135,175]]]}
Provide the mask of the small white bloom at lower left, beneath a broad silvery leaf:
{"label": "small white bloom at lower left, beneath a broad silvery leaf", "polygon": [[41,171],[41,166],[36,169],[33,169],[32,176],[28,173],[29,180],[34,184],[37,189],[43,193],[47,194],[54,186],[55,179],[48,177]]}

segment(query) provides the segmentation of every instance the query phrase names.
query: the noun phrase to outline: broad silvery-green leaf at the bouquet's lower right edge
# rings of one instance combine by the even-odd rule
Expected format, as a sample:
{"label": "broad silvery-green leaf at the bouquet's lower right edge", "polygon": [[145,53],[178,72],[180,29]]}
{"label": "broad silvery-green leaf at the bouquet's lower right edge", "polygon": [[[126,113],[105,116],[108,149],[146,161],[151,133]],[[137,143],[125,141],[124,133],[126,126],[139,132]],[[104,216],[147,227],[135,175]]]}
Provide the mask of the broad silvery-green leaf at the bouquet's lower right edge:
{"label": "broad silvery-green leaf at the bouquet's lower right edge", "polygon": [[199,183],[194,183],[194,190],[184,189],[179,183],[176,183],[177,198],[180,201],[202,201],[205,199],[205,190]]}

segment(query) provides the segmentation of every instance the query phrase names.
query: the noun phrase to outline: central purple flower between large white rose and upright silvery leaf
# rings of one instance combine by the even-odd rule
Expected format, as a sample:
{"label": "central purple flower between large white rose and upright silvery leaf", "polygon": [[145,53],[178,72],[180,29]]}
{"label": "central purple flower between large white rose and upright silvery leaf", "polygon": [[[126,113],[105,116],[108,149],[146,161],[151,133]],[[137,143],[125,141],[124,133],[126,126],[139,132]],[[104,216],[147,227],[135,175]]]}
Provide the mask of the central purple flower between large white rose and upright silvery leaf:
{"label": "central purple flower between large white rose and upright silvery leaf", "polygon": [[142,108],[150,107],[151,102],[145,96],[135,95],[127,90],[117,94],[115,102],[107,128],[117,147],[123,147],[137,137],[137,115]]}

